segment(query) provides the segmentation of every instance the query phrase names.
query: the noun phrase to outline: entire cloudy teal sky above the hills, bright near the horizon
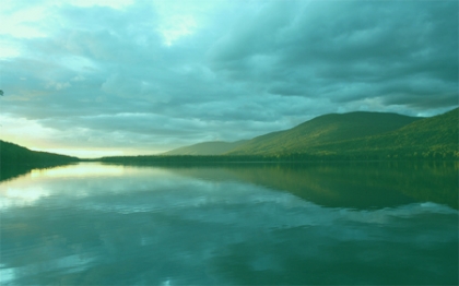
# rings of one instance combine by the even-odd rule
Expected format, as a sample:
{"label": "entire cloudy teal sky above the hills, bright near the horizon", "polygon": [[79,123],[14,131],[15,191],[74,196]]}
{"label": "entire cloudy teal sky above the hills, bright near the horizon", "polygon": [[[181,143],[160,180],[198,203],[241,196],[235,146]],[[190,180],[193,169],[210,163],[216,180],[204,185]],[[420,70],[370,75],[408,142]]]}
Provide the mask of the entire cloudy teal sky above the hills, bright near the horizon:
{"label": "entire cloudy teal sky above the hills, bright near the horizon", "polygon": [[80,157],[458,106],[458,1],[2,0],[0,138]]}

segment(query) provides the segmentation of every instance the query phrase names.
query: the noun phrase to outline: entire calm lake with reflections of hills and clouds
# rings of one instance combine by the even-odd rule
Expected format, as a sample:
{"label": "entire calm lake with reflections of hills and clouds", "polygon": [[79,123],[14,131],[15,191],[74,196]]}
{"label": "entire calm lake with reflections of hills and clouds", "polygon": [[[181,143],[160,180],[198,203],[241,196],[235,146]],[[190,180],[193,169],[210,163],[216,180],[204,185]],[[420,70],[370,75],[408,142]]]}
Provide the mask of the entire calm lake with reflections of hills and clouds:
{"label": "entire calm lake with reflections of hills and clouds", "polygon": [[123,166],[0,182],[1,285],[457,285],[457,163]]}

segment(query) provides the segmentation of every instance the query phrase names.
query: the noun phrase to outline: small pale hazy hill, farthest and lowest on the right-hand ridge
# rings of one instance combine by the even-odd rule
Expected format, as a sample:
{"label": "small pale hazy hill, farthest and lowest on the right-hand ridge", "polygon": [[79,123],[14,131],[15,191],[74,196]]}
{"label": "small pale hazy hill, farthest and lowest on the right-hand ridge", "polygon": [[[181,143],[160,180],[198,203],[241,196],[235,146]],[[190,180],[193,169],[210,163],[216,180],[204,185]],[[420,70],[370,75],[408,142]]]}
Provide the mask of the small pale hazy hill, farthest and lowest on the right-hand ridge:
{"label": "small pale hazy hill, farthest and lowest on the right-hand ridge", "polygon": [[203,142],[190,146],[179,147],[162,155],[222,155],[240,144],[244,144],[246,140],[236,141],[236,142]]}

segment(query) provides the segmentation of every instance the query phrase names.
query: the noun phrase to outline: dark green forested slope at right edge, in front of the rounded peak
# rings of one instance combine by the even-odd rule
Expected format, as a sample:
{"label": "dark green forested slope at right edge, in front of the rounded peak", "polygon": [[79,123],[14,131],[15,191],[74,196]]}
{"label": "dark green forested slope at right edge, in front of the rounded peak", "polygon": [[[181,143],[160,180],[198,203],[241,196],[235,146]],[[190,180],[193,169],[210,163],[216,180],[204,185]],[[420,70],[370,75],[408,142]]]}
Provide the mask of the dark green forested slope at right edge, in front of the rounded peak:
{"label": "dark green forested slope at right edge, in front of the rounded peak", "polygon": [[310,153],[368,154],[388,157],[459,157],[459,108],[384,134],[330,143]]}

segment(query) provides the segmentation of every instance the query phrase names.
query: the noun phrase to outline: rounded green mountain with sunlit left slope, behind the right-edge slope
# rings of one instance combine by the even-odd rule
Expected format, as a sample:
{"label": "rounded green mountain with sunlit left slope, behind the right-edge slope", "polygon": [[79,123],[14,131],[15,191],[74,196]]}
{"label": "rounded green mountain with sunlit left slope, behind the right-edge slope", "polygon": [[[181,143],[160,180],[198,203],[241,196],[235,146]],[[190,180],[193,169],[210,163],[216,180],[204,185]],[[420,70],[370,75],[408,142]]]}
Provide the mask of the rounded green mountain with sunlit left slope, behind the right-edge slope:
{"label": "rounded green mountain with sunlit left slope, behind the right-edge slope", "polygon": [[257,136],[227,155],[309,153],[313,147],[397,130],[421,118],[385,112],[330,114],[295,128]]}

